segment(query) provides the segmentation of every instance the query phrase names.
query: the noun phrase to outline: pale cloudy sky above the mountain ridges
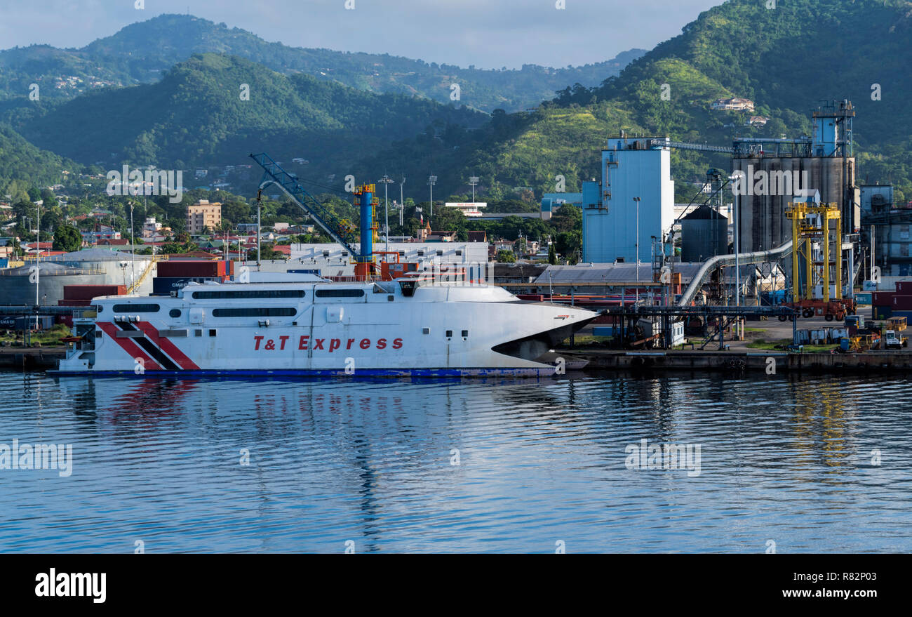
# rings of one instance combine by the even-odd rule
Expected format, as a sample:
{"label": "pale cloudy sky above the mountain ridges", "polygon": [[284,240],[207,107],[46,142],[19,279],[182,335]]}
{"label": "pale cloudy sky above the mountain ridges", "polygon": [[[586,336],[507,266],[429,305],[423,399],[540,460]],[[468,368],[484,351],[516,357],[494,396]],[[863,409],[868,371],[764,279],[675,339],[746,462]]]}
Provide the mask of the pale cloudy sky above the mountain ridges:
{"label": "pale cloudy sky above the mountain ridges", "polygon": [[389,53],[462,67],[565,67],[650,49],[722,0],[0,0],[0,48],[82,47],[187,13],[294,47]]}

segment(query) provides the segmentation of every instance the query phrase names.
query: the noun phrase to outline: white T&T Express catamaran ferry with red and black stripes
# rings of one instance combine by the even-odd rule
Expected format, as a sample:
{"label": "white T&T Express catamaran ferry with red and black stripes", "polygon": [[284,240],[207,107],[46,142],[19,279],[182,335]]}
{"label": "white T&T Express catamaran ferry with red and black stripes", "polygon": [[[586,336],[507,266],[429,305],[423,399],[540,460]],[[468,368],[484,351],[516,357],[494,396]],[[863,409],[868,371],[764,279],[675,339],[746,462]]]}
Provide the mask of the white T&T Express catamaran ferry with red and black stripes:
{"label": "white T&T Express catamaran ferry with red and black stripes", "polygon": [[78,340],[53,373],[546,376],[556,370],[548,351],[596,318],[420,277],[191,283],[92,305],[97,316],[74,319]]}

